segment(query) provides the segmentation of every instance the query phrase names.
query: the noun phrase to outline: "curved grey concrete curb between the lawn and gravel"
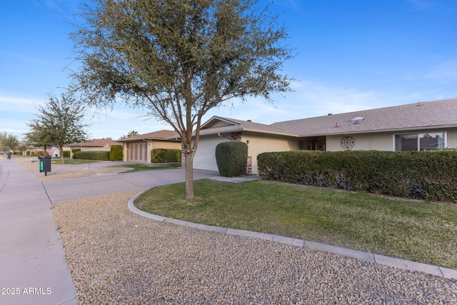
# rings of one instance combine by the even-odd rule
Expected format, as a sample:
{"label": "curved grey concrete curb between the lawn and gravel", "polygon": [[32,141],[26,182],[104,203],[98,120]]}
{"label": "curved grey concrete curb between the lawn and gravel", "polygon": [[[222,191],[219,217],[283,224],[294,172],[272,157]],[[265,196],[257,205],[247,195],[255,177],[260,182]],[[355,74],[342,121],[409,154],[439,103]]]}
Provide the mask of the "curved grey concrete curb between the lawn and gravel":
{"label": "curved grey concrete curb between the lawn and gravel", "polygon": [[150,214],[145,211],[141,211],[140,209],[136,208],[136,206],[134,205],[135,199],[137,199],[139,196],[141,196],[141,194],[144,194],[144,192],[146,192],[146,191],[148,191],[148,189],[141,191],[138,194],[136,194],[135,196],[133,196],[127,203],[127,206],[129,206],[129,210],[134,212],[135,214],[139,214],[141,216],[144,216],[149,219],[153,219],[155,221],[168,222],[170,224],[176,224],[179,226],[189,226],[190,228],[194,228],[194,229],[212,231],[212,232],[222,233],[222,234],[231,234],[231,235],[236,235],[236,236],[246,236],[246,237],[253,237],[253,238],[257,238],[257,239],[265,239],[267,241],[274,241],[274,242],[278,242],[281,244],[288,244],[291,246],[299,246],[299,247],[303,247],[303,248],[307,248],[307,249],[314,249],[317,251],[328,252],[331,254],[338,254],[338,255],[350,257],[352,259],[368,261],[373,264],[380,264],[380,265],[391,266],[393,268],[398,268],[398,269],[403,269],[403,270],[422,272],[424,274],[440,276],[445,279],[457,279],[457,270],[448,269],[448,268],[444,268],[441,266],[423,264],[423,263],[418,263],[416,261],[407,261],[405,259],[396,259],[396,258],[389,257],[389,256],[382,256],[382,255],[378,255],[378,254],[372,254],[372,253],[357,251],[357,250],[353,250],[353,249],[346,249],[346,248],[341,248],[338,246],[321,244],[321,243],[317,243],[314,241],[305,241],[302,239],[293,239],[293,238],[286,237],[286,236],[278,236],[278,235],[259,233],[259,232],[253,232],[253,231],[229,229],[229,228],[224,228],[221,226],[208,226],[206,224],[195,224],[195,223],[189,222],[189,221],[171,219],[171,218],[164,217],[164,216]]}

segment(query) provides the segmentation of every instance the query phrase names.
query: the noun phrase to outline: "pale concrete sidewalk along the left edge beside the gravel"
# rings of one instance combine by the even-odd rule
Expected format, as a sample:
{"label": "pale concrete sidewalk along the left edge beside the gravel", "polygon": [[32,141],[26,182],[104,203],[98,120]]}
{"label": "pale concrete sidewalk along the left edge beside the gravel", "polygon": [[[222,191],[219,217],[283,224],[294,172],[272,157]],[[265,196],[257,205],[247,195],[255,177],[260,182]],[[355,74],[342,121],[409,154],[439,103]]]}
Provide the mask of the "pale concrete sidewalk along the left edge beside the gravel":
{"label": "pale concrete sidewalk along the left edge beside the gravel", "polygon": [[0,159],[0,304],[78,304],[37,172]]}

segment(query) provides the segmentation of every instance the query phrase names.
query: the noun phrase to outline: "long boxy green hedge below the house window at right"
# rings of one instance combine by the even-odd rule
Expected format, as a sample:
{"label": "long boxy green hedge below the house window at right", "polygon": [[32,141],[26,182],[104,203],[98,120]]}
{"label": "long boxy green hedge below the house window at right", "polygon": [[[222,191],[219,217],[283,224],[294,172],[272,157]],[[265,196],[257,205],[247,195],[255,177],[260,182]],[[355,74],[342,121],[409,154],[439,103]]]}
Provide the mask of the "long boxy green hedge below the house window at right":
{"label": "long boxy green hedge below the house window at right", "polygon": [[285,151],[257,156],[265,179],[457,201],[457,151]]}

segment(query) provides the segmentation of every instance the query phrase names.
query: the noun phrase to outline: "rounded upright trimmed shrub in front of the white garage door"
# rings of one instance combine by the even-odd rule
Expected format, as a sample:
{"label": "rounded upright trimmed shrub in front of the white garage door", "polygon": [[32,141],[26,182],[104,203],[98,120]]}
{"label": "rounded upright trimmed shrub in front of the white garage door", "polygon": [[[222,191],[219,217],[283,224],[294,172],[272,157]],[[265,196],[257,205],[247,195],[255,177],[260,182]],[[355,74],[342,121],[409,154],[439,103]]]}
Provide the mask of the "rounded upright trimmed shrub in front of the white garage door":
{"label": "rounded upright trimmed shrub in front of the white garage door", "polygon": [[238,141],[222,142],[216,146],[216,163],[224,177],[246,175],[248,144]]}

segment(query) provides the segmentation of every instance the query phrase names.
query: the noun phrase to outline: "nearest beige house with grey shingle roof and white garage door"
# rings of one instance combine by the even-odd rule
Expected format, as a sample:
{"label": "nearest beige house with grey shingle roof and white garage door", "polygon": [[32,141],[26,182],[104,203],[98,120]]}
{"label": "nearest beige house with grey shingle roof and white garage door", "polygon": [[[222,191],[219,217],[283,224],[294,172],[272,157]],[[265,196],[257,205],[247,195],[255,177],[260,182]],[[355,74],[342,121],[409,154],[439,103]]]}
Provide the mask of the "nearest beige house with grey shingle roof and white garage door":
{"label": "nearest beige house with grey shingle roof and white garage door", "polygon": [[248,174],[266,151],[422,151],[457,148],[457,99],[328,114],[271,125],[214,116],[201,126],[194,169],[217,171],[216,145],[248,144]]}

